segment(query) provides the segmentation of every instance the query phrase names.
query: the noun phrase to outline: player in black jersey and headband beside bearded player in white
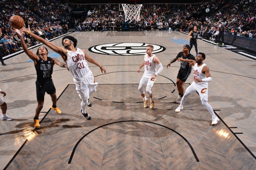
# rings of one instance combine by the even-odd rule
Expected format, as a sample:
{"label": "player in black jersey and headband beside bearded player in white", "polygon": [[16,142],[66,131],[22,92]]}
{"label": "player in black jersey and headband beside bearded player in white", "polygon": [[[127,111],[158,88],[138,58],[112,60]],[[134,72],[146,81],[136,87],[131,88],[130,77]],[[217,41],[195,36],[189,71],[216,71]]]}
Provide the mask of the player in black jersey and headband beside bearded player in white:
{"label": "player in black jersey and headband beside bearded player in white", "polygon": [[[171,66],[172,63],[177,61],[178,58],[180,58],[180,57],[182,57],[183,59],[186,59],[186,60],[188,60],[188,59],[196,60],[196,58],[192,54],[188,53],[189,49],[190,49],[190,46],[188,44],[184,45],[182,48],[182,51],[180,53],[178,53],[178,55],[167,64],[167,68],[168,68],[168,66]],[[187,62],[184,61],[184,62],[180,63],[180,70],[178,72],[177,82],[176,82],[179,96],[176,99],[175,103],[180,103],[181,98],[184,95],[183,85],[184,85],[185,81],[187,80],[189,74],[191,73],[191,70],[192,70],[192,67],[190,67]]]}

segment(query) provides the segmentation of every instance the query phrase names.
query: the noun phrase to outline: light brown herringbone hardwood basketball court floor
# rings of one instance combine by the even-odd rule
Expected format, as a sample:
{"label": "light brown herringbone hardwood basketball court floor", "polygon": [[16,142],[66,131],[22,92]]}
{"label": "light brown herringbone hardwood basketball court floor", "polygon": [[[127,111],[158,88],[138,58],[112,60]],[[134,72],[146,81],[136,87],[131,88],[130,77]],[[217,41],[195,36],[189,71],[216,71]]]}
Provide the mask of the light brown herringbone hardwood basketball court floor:
{"label": "light brown herringbone hardwood basketball court floor", "polygon": [[[70,73],[54,66],[52,79],[57,96],[63,92],[58,100],[63,113],[57,115],[51,110],[46,115],[51,105],[51,99],[46,95],[44,113],[40,114],[40,120],[46,115],[42,128],[33,132],[35,68],[32,62],[26,62],[28,57],[21,54],[6,60],[6,67],[0,65],[0,88],[7,93],[4,101],[9,108],[8,114],[15,118],[11,122],[0,121],[0,168],[8,164],[27,140],[10,162],[9,169],[255,169],[256,161],[252,156],[256,154],[255,61],[198,40],[198,50],[206,54],[205,63],[213,78],[209,83],[209,103],[228,127],[237,127],[230,129],[222,121],[216,126],[210,125],[211,116],[196,93],[188,98],[180,113],[174,111],[178,104],[172,103],[177,97],[172,81],[176,81],[180,63],[175,62],[168,69],[165,66],[182,50],[185,40],[189,40],[187,35],[180,32],[129,32],[123,35],[74,32],[71,35],[78,39],[77,46],[86,51],[104,43],[137,42],[164,46],[166,50],[156,54],[164,65],[152,88],[156,108],[144,109],[143,103],[137,103],[141,102],[137,88],[142,73],[136,73],[143,61],[141,55],[113,56],[88,51],[108,72],[101,74],[98,67],[89,63],[99,82],[97,92],[90,97],[93,106],[88,112],[92,120],[84,120],[79,112],[80,100]],[[179,44],[180,41],[183,44]],[[61,46],[60,39],[54,43]],[[49,52],[55,55],[50,49]],[[191,53],[195,54],[194,48]],[[191,82],[190,75],[185,88]],[[109,125],[92,131],[105,124]],[[68,164],[76,143],[90,131],[77,145]],[[188,141],[195,154],[175,131]]]}

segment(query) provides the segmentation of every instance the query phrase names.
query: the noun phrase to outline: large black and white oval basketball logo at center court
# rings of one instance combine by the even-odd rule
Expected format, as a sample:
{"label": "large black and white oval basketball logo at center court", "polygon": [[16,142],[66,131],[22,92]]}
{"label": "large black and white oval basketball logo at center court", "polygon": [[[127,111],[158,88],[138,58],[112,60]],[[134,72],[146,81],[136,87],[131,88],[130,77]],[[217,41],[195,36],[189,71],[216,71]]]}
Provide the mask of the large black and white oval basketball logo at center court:
{"label": "large black and white oval basketball logo at center court", "polygon": [[[146,43],[110,43],[92,46],[88,50],[93,53],[106,55],[144,55],[146,54]],[[165,47],[151,44],[154,46],[153,53],[160,53]]]}

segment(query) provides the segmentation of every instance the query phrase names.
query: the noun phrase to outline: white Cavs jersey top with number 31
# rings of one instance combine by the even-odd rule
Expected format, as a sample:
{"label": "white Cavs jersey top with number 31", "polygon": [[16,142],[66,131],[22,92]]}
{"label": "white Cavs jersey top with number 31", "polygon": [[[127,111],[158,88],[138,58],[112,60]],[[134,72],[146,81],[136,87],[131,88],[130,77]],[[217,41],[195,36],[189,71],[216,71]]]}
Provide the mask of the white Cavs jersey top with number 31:
{"label": "white Cavs jersey top with number 31", "polygon": [[80,48],[76,48],[76,52],[69,50],[67,51],[68,59],[65,61],[65,63],[67,64],[72,76],[75,79],[85,77],[90,72],[90,69],[85,60],[84,52]]}

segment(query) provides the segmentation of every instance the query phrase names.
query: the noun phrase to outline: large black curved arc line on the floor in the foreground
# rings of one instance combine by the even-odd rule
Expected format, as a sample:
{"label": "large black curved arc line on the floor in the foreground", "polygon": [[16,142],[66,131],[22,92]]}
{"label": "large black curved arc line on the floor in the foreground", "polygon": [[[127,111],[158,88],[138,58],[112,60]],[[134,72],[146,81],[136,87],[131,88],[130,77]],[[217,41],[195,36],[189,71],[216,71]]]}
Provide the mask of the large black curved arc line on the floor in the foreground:
{"label": "large black curved arc line on the floor in the foreground", "polygon": [[72,151],[72,153],[71,153],[71,155],[70,155],[70,158],[69,158],[69,160],[68,160],[68,164],[71,163],[71,161],[72,161],[72,159],[73,159],[73,156],[74,156],[74,154],[75,154],[75,151],[76,151],[77,146],[79,145],[79,143],[80,143],[87,135],[89,135],[90,133],[92,133],[93,131],[95,131],[95,130],[101,128],[101,127],[107,126],[107,125],[109,125],[109,124],[116,124],[116,123],[121,123],[121,122],[144,122],[144,123],[156,124],[156,125],[162,126],[162,127],[164,127],[164,128],[167,128],[167,129],[169,129],[169,130],[175,132],[175,133],[178,134],[183,140],[185,140],[185,141],[187,142],[188,146],[190,147],[191,151],[192,151],[193,154],[194,154],[194,157],[195,157],[196,161],[199,162],[199,159],[197,158],[196,152],[194,151],[192,145],[188,142],[188,140],[187,140],[186,138],[184,138],[184,137],[183,137],[180,133],[178,133],[177,131],[174,131],[173,129],[171,129],[171,128],[167,127],[167,126],[164,126],[164,125],[162,125],[162,124],[157,124],[157,123],[154,123],[154,122],[141,121],[141,120],[124,120],[124,121],[112,122],[112,123],[104,124],[104,125],[102,125],[102,126],[99,126],[99,127],[95,128],[95,129],[93,129],[92,131],[89,131],[88,133],[86,133],[82,138],[80,138],[80,139],[78,140],[78,142],[76,143],[75,147],[73,148],[73,151]]}

